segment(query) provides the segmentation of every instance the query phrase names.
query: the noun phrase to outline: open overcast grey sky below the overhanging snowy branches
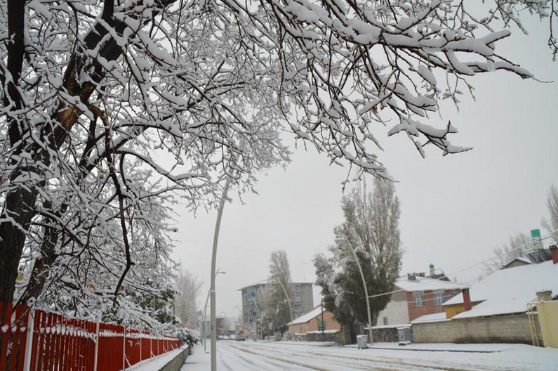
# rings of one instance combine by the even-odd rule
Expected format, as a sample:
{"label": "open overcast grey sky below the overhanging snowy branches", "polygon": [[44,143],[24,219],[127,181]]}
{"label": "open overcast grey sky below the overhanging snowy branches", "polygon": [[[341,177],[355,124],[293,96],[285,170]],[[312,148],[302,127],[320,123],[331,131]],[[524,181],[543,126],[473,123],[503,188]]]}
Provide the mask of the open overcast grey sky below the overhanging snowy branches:
{"label": "open overcast grey sky below the overhanging snowy branches", "polygon": [[[423,159],[406,136],[387,138],[387,129],[378,128],[385,148],[378,155],[399,182],[405,249],[401,274],[427,271],[434,263],[450,278],[466,282],[477,278],[482,267],[463,270],[489,259],[492,249],[510,235],[529,234],[534,228],[547,233],[540,219],[547,217],[548,188],[558,185],[558,64],[552,62],[544,36],[523,37],[514,31],[513,40],[497,52],[554,83],[503,72],[472,79],[476,102],[464,96],[459,112],[444,105],[441,117],[434,115],[428,122],[442,126],[451,119],[460,131],[453,144],[471,146],[472,151],[442,157],[439,150],[427,148]],[[234,197],[225,205],[217,266],[227,274],[216,281],[218,315],[239,314],[237,290],[267,278],[274,250],[287,252],[293,280],[313,282],[312,256],[326,251],[333,227],[343,221],[341,182],[347,170],[330,166],[326,156],[313,149],[292,150],[289,167],[260,176],[259,195],[246,195],[245,204]],[[371,184],[369,179],[369,188]],[[194,218],[186,210],[176,211],[180,219],[174,257],[204,282],[199,298],[203,305],[216,212],[201,211]]]}

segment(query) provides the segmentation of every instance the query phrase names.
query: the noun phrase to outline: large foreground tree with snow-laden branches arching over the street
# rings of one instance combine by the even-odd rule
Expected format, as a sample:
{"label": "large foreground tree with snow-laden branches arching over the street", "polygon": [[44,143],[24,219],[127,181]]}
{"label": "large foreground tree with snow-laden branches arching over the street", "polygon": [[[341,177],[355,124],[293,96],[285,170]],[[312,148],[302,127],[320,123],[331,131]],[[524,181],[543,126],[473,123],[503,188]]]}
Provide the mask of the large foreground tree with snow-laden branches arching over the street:
{"label": "large foreground tree with snow-laden branches arching over the street", "polygon": [[[258,171],[288,162],[285,129],[357,177],[385,176],[374,133],[388,124],[421,155],[466,150],[428,116],[475,74],[531,77],[496,52],[505,27],[545,18],[556,52],[554,1],[492,6],[0,1],[0,301],[54,305],[60,285],[69,301],[130,304],[120,293],[147,241],[133,239],[135,223],[165,235],[175,195],[194,210],[215,204],[224,178],[253,190]],[[149,268],[171,266],[165,254]],[[16,292],[20,264],[29,286]]]}

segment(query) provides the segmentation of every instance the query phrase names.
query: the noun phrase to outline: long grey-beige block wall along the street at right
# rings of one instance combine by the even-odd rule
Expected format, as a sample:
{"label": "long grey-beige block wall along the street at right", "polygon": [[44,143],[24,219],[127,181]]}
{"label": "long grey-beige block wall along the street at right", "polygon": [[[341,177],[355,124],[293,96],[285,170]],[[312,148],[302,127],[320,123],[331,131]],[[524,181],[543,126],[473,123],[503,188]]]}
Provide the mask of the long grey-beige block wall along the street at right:
{"label": "long grey-beige block wall along the street at right", "polygon": [[[537,333],[538,318],[534,316]],[[539,336],[539,339],[542,337]],[[523,343],[532,344],[526,314],[463,318],[430,323],[414,323],[413,343]]]}

